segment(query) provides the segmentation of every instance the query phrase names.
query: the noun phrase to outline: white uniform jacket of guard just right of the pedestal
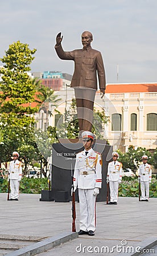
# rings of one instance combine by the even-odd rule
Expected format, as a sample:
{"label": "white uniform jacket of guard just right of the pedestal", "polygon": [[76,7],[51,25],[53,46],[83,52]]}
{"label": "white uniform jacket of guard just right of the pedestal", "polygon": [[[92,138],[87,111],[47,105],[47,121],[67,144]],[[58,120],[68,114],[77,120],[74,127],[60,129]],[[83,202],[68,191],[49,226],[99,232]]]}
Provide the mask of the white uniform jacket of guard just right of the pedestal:
{"label": "white uniform jacket of guard just right of the pedestal", "polygon": [[110,162],[108,165],[108,177],[111,181],[122,180],[122,163],[118,161]]}

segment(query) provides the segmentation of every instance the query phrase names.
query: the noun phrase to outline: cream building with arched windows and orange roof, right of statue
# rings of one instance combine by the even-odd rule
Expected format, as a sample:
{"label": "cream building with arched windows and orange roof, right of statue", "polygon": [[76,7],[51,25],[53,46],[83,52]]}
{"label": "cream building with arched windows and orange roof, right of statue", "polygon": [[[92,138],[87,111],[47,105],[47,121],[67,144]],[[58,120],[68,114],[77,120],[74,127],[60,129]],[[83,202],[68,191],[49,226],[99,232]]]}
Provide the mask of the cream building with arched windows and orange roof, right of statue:
{"label": "cream building with arched windows and orange roof, right of statue", "polygon": [[[102,105],[100,92],[96,102]],[[114,150],[157,147],[157,83],[108,84],[104,110],[110,118],[104,137]]]}

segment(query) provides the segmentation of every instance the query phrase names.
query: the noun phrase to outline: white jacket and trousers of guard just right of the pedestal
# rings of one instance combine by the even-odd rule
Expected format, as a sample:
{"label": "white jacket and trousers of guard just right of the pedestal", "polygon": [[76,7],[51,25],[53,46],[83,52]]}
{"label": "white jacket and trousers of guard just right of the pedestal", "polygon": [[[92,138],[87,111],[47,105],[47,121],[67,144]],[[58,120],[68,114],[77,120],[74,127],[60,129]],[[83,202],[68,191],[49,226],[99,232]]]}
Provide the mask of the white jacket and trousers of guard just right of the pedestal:
{"label": "white jacket and trousers of guard just right of the pedestal", "polygon": [[112,161],[108,165],[108,179],[110,185],[110,202],[118,201],[119,180],[122,180],[122,163]]}

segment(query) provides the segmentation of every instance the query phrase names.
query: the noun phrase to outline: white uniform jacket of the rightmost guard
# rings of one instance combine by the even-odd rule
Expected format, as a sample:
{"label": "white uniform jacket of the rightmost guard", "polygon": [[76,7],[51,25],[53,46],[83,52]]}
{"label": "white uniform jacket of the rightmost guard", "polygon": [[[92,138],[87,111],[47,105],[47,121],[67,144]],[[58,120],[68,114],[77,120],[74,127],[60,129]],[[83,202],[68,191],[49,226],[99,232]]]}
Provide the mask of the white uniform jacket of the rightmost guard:
{"label": "white uniform jacket of the rightmost guard", "polygon": [[141,181],[151,181],[151,165],[146,163],[139,166],[139,176]]}

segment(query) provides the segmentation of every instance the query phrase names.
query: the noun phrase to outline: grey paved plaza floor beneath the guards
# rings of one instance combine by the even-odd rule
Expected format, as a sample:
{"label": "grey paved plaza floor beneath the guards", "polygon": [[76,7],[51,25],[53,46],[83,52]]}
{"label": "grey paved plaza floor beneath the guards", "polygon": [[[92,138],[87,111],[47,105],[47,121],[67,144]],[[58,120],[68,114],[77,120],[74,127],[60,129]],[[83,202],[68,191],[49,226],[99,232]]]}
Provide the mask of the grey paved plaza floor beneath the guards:
{"label": "grey paved plaza floor beneath the guards", "polygon": [[[19,201],[6,199],[7,194],[0,193],[1,236],[35,236],[46,239],[72,231],[72,202],[39,201],[40,195],[34,194],[20,194]],[[127,246],[136,247],[146,238],[157,239],[156,203],[157,199],[139,202],[137,197],[119,197],[118,205],[98,202],[94,237],[80,236],[38,255],[117,255],[118,251],[116,248],[113,249],[113,246],[121,246],[123,253],[126,243]],[[78,232],[79,203],[77,202],[76,212]],[[88,249],[88,246],[91,246],[91,249]],[[108,247],[106,254],[97,253],[98,248],[101,249],[102,246]],[[95,251],[91,253],[88,250]]]}

